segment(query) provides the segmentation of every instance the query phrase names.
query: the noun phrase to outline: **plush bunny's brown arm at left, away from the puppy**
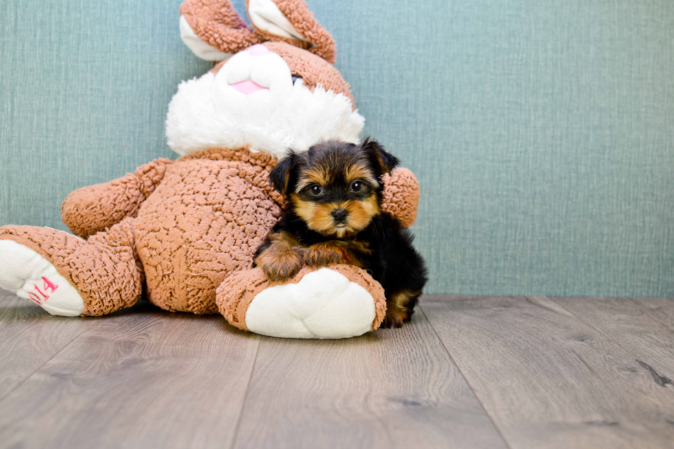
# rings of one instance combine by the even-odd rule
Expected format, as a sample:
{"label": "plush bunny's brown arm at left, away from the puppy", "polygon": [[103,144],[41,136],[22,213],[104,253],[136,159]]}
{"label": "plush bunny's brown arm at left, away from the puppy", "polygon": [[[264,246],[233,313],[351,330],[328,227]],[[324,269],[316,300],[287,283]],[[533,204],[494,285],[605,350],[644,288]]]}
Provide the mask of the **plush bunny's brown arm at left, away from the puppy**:
{"label": "plush bunny's brown arm at left, away from the puppy", "polygon": [[143,201],[164,177],[171,160],[158,159],[113,181],[79,188],[61,205],[61,219],[86,239],[126,217],[135,217]]}

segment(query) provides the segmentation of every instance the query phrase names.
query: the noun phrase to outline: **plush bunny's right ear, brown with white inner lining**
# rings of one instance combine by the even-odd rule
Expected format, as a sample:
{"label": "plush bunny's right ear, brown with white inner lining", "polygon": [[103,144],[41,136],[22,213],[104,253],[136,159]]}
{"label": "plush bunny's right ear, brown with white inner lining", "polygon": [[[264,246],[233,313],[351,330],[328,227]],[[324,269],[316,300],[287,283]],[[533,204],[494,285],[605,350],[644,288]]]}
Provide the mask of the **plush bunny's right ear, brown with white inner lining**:
{"label": "plush bunny's right ear, brown with white inner lining", "polygon": [[334,64],[337,47],[304,0],[246,0],[253,27],[269,41],[283,41]]}

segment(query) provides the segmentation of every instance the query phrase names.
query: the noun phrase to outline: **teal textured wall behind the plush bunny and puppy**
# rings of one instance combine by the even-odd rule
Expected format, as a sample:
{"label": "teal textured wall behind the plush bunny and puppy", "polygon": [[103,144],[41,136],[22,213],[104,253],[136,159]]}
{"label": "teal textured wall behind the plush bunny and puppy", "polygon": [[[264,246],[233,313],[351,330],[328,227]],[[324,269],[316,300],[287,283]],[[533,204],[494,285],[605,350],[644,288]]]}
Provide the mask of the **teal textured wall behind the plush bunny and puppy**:
{"label": "teal textured wall behind the plush bunny and puppy", "polygon": [[[674,2],[308,3],[420,178],[428,292],[674,296]],[[0,224],[65,229],[67,193],[171,156],[209,67],[179,4],[0,2]]]}

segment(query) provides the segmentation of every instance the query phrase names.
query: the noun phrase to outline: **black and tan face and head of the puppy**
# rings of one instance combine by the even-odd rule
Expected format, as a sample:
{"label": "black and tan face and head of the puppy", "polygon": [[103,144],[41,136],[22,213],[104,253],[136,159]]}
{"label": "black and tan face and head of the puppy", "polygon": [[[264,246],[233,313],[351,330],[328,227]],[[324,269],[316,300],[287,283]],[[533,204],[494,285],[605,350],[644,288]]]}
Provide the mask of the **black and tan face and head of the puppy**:
{"label": "black and tan face and head of the puppy", "polygon": [[398,159],[375,141],[329,141],[290,153],[270,173],[272,185],[315,232],[341,239],[367,228],[381,212],[380,177]]}

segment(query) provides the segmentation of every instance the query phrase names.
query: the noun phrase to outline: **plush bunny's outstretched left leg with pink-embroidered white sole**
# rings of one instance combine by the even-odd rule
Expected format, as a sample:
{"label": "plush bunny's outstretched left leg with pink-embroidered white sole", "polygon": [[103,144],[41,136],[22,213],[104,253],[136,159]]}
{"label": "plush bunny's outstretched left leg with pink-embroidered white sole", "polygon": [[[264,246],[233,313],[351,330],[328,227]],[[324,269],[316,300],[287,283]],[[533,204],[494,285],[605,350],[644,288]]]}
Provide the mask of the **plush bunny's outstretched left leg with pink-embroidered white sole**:
{"label": "plush bunny's outstretched left leg with pink-embroidered white sole", "polygon": [[52,315],[100,316],[133,305],[143,272],[127,218],[88,240],[52,228],[0,228],[0,288]]}

